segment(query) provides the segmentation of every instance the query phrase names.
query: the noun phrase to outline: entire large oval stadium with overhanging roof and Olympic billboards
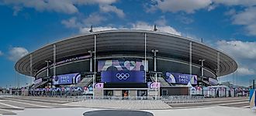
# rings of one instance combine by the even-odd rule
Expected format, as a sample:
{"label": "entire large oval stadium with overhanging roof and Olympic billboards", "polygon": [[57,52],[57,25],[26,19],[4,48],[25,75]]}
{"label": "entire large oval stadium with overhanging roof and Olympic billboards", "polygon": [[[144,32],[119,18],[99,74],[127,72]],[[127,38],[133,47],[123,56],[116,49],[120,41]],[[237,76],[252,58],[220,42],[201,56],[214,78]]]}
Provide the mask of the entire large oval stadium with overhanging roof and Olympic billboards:
{"label": "entire large oval stadium with overhanging roof and Olympic billboards", "polygon": [[15,69],[35,77],[28,94],[141,97],[188,95],[188,87],[214,86],[218,77],[237,70],[237,63],[193,39],[116,29],[48,44],[23,56]]}

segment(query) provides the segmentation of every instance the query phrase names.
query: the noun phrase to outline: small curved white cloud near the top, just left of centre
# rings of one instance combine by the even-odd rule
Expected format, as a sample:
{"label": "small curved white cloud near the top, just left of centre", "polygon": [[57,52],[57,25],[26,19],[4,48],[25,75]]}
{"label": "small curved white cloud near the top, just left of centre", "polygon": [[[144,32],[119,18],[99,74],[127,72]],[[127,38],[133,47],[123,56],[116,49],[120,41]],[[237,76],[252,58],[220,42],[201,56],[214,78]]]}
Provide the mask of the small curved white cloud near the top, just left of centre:
{"label": "small curved white cloud near the top, just left of centre", "polygon": [[125,17],[123,10],[117,9],[116,6],[113,6],[113,5],[99,5],[99,9],[102,12],[114,12],[114,13],[116,13],[116,15],[119,16],[119,18]]}

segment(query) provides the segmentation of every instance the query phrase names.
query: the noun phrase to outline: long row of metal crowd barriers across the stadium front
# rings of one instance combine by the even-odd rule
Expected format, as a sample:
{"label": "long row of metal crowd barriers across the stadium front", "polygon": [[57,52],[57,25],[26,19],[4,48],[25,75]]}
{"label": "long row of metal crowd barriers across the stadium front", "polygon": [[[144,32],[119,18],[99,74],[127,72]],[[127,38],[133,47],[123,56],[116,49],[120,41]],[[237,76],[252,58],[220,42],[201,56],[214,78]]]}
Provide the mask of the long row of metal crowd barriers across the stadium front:
{"label": "long row of metal crowd barriers across the stadium front", "polygon": [[[72,94],[67,94],[72,93]],[[128,97],[115,97],[115,96],[95,96],[85,95],[81,90],[70,91],[29,91],[30,96],[39,97],[66,97],[67,101],[92,101],[92,100],[108,100],[108,101],[162,101],[167,104],[186,104],[203,102],[205,97],[203,96],[191,96],[191,95],[178,95],[178,96],[128,96]]]}

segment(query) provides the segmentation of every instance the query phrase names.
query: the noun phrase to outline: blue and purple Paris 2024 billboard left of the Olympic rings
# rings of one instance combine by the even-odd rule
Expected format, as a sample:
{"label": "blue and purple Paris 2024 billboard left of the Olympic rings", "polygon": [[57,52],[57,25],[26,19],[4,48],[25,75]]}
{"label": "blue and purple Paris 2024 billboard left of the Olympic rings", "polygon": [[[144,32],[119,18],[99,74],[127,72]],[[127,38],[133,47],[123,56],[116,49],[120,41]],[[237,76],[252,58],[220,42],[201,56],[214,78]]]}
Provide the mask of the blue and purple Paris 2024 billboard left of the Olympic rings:
{"label": "blue and purple Paris 2024 billboard left of the Olympic rings", "polygon": [[81,80],[80,73],[70,73],[53,77],[53,84],[78,84]]}

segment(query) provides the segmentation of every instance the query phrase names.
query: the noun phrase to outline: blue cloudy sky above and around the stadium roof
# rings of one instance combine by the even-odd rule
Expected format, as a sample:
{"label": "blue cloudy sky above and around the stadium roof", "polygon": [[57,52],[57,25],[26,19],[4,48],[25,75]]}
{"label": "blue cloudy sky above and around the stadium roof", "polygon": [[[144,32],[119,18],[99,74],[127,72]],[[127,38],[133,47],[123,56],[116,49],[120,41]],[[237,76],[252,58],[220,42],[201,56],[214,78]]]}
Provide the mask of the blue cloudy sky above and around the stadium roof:
{"label": "blue cloudy sky above and around the stadium roof", "polygon": [[[170,32],[220,49],[238,70],[220,81],[256,79],[256,0],[0,0],[0,87],[21,86],[19,58],[70,36],[108,29]],[[19,84],[18,84],[19,82]]]}

